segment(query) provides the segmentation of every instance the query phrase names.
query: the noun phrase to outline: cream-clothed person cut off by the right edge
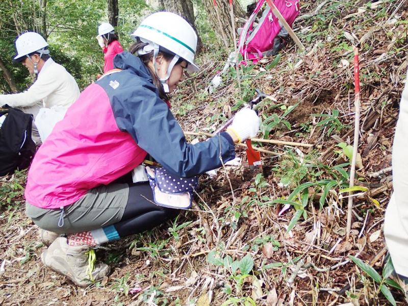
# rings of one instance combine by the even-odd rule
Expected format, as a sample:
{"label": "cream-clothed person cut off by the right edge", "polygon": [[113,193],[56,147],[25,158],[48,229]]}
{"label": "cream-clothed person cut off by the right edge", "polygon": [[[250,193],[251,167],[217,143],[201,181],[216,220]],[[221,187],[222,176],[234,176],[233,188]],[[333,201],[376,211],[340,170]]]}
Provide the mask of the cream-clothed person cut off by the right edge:
{"label": "cream-clothed person cut off by the right edge", "polygon": [[394,192],[387,207],[384,236],[395,272],[408,288],[408,82],[402,92],[392,150]]}

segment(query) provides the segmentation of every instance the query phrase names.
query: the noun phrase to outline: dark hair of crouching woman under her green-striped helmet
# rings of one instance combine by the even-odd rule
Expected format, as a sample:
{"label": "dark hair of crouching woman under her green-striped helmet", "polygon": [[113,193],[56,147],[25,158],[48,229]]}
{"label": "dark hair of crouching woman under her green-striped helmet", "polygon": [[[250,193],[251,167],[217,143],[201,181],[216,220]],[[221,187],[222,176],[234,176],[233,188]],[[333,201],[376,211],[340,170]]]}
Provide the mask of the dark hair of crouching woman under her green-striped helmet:
{"label": "dark hair of crouching woman under her green-striped helmet", "polygon": [[[138,55],[138,50],[143,49],[145,46],[147,46],[148,43],[147,42],[142,42],[142,41],[136,41],[134,44],[132,44],[129,47],[129,52],[132,53],[135,56],[138,56],[141,61],[143,62],[143,64],[145,64],[145,66],[149,69],[151,77],[153,79],[153,83],[155,84],[156,88],[159,90],[159,96],[162,100],[168,100],[169,96],[168,94],[164,91],[163,85],[160,82],[159,77],[157,76],[155,70],[151,69],[150,66],[148,65],[149,62],[151,62],[152,58],[153,58],[153,51],[144,54],[144,55]],[[168,50],[163,50],[162,47],[159,48],[159,54],[162,54],[163,57],[166,59],[166,61],[171,61],[171,59],[174,57],[174,54],[169,52]],[[182,61],[184,61],[184,59],[180,58],[177,64],[180,64]]]}

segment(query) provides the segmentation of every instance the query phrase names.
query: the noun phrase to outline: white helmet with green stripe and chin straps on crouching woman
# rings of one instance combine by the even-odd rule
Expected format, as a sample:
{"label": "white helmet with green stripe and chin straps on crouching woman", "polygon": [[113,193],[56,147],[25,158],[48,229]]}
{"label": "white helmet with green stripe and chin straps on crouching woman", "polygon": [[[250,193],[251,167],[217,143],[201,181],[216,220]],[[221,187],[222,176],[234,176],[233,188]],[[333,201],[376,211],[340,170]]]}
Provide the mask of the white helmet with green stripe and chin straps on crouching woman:
{"label": "white helmet with green stripe and chin straps on crouching woman", "polygon": [[170,12],[158,12],[146,17],[139,27],[131,34],[134,40],[140,39],[149,43],[139,50],[143,55],[154,50],[154,65],[156,69],[156,57],[159,47],[163,47],[174,54],[167,69],[166,78],[160,79],[166,92],[168,92],[165,81],[170,77],[171,70],[179,58],[188,62],[187,70],[199,71],[194,64],[195,50],[197,48],[197,34],[191,25],[181,16]]}

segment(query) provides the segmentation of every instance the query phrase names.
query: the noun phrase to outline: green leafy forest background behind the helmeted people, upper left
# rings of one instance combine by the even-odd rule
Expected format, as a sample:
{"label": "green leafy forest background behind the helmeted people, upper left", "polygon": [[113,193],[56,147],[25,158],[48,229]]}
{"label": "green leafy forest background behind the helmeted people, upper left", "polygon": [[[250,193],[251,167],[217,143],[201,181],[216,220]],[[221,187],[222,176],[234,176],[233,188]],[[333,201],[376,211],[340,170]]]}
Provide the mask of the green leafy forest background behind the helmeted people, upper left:
{"label": "green leafy forest background behind the helmeted people, upper left", "polygon": [[[11,58],[15,54],[17,34],[36,31],[47,39],[50,56],[62,64],[83,89],[96,79],[97,73],[103,71],[104,54],[95,36],[98,25],[108,20],[106,0],[48,0],[45,29],[39,3],[17,0],[0,3],[0,60],[12,73],[18,89],[27,88],[30,85],[27,69],[21,64],[13,66]],[[132,42],[129,34],[147,9],[143,0],[119,1],[116,33],[124,49]],[[11,92],[3,78],[0,79],[0,92]]]}

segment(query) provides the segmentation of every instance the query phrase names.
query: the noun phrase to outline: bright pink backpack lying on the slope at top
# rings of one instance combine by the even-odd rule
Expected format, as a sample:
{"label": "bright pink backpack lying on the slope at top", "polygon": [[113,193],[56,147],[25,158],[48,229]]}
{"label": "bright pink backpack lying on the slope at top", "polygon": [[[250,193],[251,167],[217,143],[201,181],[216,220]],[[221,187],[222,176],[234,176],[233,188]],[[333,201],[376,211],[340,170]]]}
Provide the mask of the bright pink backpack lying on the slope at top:
{"label": "bright pink backpack lying on the slope at top", "polygon": [[[276,48],[274,44],[277,36],[281,36],[282,32],[287,35],[285,28],[282,28],[278,18],[273,15],[272,9],[268,5],[258,25],[253,28],[255,17],[264,3],[265,0],[258,1],[257,7],[242,29],[238,49],[244,61],[251,60],[254,63],[258,62],[265,53]],[[273,4],[292,27],[293,21],[299,15],[299,0],[274,0]]]}

